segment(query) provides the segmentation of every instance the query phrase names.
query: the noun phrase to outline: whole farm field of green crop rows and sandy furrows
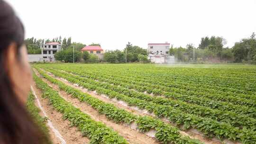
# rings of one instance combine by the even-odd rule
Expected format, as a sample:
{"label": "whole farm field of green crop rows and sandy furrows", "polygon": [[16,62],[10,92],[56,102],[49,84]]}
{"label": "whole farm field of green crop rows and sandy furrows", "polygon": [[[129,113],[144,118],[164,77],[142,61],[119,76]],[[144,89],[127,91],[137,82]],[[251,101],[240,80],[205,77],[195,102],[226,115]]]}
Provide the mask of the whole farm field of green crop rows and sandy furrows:
{"label": "whole farm field of green crop rows and sandy furrows", "polygon": [[34,92],[66,144],[256,144],[254,65],[34,64],[33,71]]}

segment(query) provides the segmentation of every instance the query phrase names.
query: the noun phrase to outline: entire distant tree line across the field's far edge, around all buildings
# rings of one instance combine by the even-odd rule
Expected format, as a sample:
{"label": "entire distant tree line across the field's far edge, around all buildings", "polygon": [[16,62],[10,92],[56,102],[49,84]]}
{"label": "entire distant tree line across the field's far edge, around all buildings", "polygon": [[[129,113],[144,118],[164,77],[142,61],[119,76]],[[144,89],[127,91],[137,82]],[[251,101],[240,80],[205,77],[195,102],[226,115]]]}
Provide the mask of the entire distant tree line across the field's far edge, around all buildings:
{"label": "entire distant tree line across the field's far edge, around all buildings", "polygon": [[[123,50],[106,51],[103,59],[100,60],[95,54],[88,52],[81,52],[82,47],[86,46],[82,43],[72,42],[71,37],[62,39],[61,36],[50,39],[36,39],[34,37],[27,38],[25,44],[27,45],[28,54],[41,54],[41,48],[50,42],[58,42],[62,44],[62,51],[55,54],[58,61],[71,63],[73,62],[73,47],[75,62],[83,61],[86,63],[125,63],[126,51],[127,62],[148,63],[146,49],[139,46],[133,46],[130,42]],[[169,54],[174,55],[178,62],[193,62],[193,51],[195,49],[196,62],[235,62],[235,63],[256,63],[256,36],[253,33],[249,38],[244,38],[240,42],[235,43],[231,48],[224,47],[227,41],[219,36],[205,36],[201,38],[199,46],[196,48],[192,44],[186,47],[170,48]],[[100,44],[90,44],[99,45]]]}

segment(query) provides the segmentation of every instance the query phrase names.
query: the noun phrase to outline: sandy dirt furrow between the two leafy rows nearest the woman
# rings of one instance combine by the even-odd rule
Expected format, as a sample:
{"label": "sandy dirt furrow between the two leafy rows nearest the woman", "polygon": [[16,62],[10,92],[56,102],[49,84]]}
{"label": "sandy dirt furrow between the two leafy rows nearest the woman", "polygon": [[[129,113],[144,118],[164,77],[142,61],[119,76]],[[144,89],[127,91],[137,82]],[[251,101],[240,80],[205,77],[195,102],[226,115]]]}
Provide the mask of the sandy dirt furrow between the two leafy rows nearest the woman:
{"label": "sandy dirt furrow between the two leafy rows nearest the woman", "polygon": [[122,124],[116,124],[112,122],[105,115],[100,114],[97,110],[92,108],[90,105],[87,105],[85,102],[80,102],[78,99],[72,98],[72,96],[67,94],[65,91],[60,90],[57,85],[51,83],[50,81],[44,78],[42,78],[42,80],[45,81],[54,90],[58,91],[60,96],[64,98],[66,101],[70,102],[74,107],[80,108],[82,112],[89,115],[93,120],[101,121],[105,125],[110,126],[116,132],[118,132],[119,135],[127,139],[130,144],[160,144],[154,138],[149,137],[145,134],[142,134],[137,130],[131,129],[128,126],[125,126]]}

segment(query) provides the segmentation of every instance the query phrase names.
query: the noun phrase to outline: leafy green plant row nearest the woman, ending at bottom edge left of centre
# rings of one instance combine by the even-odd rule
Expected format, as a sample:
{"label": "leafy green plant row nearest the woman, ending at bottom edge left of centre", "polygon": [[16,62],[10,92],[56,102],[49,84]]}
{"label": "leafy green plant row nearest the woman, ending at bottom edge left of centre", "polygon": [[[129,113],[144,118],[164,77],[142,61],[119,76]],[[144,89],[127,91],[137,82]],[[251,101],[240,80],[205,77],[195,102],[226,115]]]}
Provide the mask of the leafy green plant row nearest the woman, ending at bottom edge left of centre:
{"label": "leafy green plant row nearest the woman, ending at bottom edge left of centre", "polygon": [[78,127],[83,135],[90,138],[90,144],[128,144],[117,132],[101,122],[92,120],[89,115],[82,113],[80,109],[66,102],[58,95],[57,91],[50,88],[35,74],[33,78],[37,87],[43,91],[43,96],[49,99],[51,105],[63,114],[64,119],[69,120],[72,126]]}

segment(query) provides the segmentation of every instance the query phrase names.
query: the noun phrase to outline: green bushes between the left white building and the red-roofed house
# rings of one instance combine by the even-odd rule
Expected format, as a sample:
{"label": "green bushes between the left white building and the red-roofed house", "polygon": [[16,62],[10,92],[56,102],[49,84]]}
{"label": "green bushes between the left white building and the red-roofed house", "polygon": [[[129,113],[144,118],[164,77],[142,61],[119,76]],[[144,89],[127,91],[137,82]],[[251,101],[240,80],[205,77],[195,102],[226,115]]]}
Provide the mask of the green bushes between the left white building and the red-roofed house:
{"label": "green bushes between the left white building and the red-roofed house", "polygon": [[[82,53],[80,51],[74,51],[74,62],[80,61],[81,58]],[[65,63],[73,63],[73,48],[58,51],[55,54],[55,59]]]}

